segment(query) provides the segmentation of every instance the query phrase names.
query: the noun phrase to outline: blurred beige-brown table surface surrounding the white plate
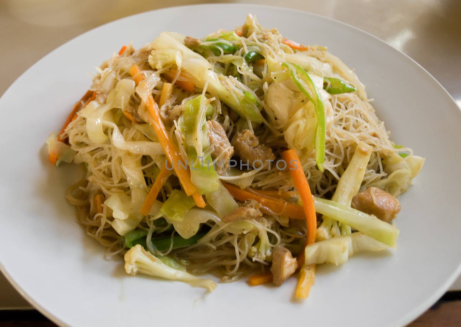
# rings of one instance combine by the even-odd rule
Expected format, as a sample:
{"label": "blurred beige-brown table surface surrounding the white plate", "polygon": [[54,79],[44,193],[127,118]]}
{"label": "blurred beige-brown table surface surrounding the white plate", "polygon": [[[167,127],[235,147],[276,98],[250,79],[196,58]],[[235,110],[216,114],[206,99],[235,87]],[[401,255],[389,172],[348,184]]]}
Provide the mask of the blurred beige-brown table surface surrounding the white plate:
{"label": "blurred beige-brown table surface surrounding the white plate", "polygon": [[[280,6],[275,0],[216,2]],[[83,32],[139,12],[196,3],[200,1],[0,1],[0,44],[7,45],[0,52],[0,95],[37,60]],[[461,107],[461,1],[288,0],[284,5],[335,18],[378,36],[422,65]],[[0,309],[30,308],[1,273],[0,290]],[[461,279],[451,290],[461,290]],[[447,308],[461,308],[459,302],[453,303],[443,303],[423,317],[432,319]],[[415,326],[429,326],[424,323],[414,322]]]}

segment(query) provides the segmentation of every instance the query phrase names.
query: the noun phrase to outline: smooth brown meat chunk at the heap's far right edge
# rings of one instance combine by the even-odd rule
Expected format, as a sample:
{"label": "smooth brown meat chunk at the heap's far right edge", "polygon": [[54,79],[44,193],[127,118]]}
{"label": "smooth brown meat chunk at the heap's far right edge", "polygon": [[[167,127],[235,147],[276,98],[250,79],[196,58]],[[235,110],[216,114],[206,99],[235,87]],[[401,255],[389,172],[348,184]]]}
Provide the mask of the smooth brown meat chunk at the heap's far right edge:
{"label": "smooth brown meat chunk at the heap's far right edge", "polygon": [[351,207],[366,214],[374,214],[385,222],[390,222],[396,218],[400,211],[399,200],[375,186],[354,196]]}

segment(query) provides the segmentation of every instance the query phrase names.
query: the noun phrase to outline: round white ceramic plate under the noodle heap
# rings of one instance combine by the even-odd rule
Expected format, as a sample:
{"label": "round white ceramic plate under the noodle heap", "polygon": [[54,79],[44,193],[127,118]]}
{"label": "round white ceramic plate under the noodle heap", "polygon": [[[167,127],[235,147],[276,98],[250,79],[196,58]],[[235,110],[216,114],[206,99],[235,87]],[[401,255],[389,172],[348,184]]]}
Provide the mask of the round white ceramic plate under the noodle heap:
{"label": "round white ceramic plate under the noodle heap", "polygon": [[[123,44],[135,47],[161,31],[204,36],[256,14],[284,36],[330,48],[375,99],[396,143],[427,158],[402,196],[399,249],[319,267],[307,301],[292,302],[296,284],[220,284],[213,294],[179,282],[124,273],[121,259],[75,222],[65,188],[76,168],[51,166],[44,142],[88,89],[87,71]],[[0,99],[1,270],[43,314],[70,326],[402,326],[454,281],[461,259],[459,169],[461,114],[449,94],[412,59],[348,25],[305,12],[262,6],[187,6],[120,19],[54,50],[19,77]]]}

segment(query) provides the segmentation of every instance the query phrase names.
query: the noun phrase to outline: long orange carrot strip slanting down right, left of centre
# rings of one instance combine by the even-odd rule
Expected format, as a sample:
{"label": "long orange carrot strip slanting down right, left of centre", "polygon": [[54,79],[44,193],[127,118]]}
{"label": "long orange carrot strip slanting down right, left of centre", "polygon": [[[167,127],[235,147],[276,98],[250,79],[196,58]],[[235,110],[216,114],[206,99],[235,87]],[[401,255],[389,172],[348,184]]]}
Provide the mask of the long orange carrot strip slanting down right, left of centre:
{"label": "long orange carrot strip slanting down right, left of centre", "polygon": [[[136,84],[140,83],[143,79],[142,74],[140,74],[140,72],[141,71],[137,65],[133,65],[130,69],[131,77],[134,79]],[[190,180],[189,167],[187,169],[180,169],[179,162],[182,160],[181,154],[179,153],[179,149],[177,149],[177,146],[173,143],[173,141],[171,141],[168,131],[166,131],[165,129],[165,125],[163,125],[163,121],[160,117],[159,106],[154,101],[152,94],[148,95],[147,100],[148,101],[146,107],[150,117],[152,118],[151,123],[154,127],[155,134],[159,139],[159,143],[162,146],[162,149],[165,152],[168,161],[170,161],[170,164],[173,166],[174,172],[176,172],[176,176],[179,179],[181,185],[183,186],[184,192],[186,192],[188,196],[191,196],[197,192],[197,188]],[[203,201],[203,198],[201,200]],[[197,206],[200,207],[202,205],[202,201],[195,200],[195,204],[197,204]]]}

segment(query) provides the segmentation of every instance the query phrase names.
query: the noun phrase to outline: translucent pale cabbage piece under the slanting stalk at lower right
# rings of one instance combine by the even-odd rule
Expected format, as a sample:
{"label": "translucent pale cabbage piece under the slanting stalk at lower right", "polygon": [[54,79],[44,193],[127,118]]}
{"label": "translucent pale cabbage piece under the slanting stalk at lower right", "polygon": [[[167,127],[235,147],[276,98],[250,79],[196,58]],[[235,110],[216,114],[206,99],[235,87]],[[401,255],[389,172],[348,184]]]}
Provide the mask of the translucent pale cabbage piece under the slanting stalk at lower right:
{"label": "translucent pale cabbage piece under the slanting stalk at lower right", "polygon": [[338,236],[306,246],[305,266],[320,263],[343,264],[349,256],[361,251],[382,251],[390,246],[361,232]]}

